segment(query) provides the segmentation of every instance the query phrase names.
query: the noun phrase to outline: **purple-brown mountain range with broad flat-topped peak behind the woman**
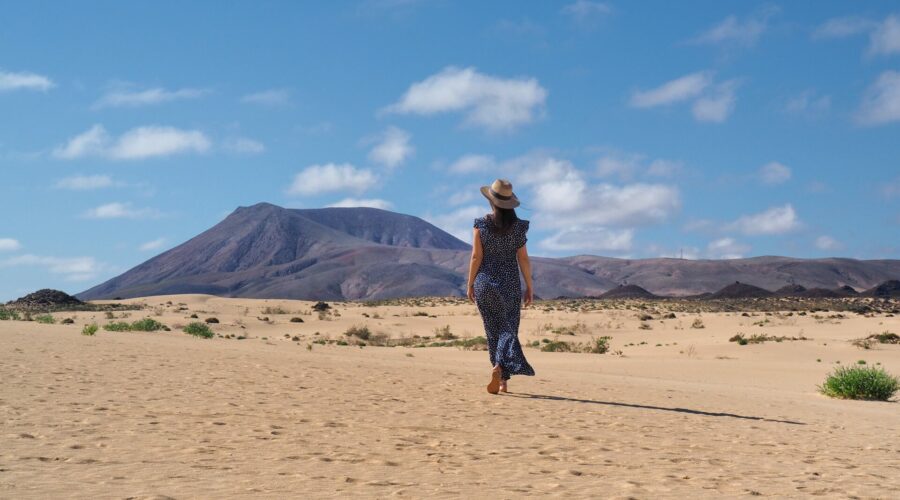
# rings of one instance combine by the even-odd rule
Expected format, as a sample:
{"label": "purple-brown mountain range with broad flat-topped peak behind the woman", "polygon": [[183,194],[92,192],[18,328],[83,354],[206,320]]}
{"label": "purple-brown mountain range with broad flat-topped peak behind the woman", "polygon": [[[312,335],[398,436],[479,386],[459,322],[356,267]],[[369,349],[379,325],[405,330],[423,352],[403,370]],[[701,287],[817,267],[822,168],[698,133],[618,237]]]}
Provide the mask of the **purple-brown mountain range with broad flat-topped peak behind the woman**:
{"label": "purple-brown mountain range with broad flat-topped peak behind the woman", "polygon": [[[410,215],[375,208],[240,207],[190,240],[85,290],[81,300],[174,293],[315,300],[463,296],[470,246]],[[598,296],[620,283],[691,295],[741,281],[869,289],[900,278],[900,261],[532,259],[539,297]]]}

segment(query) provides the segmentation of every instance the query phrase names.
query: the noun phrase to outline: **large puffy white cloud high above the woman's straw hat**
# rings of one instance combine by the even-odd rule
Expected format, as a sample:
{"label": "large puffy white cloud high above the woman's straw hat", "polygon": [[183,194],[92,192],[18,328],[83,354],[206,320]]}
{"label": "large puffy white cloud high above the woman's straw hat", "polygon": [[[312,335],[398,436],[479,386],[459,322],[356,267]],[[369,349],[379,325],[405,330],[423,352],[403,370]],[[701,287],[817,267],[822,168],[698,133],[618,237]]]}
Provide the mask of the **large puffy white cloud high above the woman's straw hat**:
{"label": "large puffy white cloud high above the woman's straw hat", "polygon": [[468,125],[491,131],[531,123],[543,111],[547,91],[534,78],[498,78],[475,68],[447,67],[413,83],[386,112],[433,115],[465,113]]}

